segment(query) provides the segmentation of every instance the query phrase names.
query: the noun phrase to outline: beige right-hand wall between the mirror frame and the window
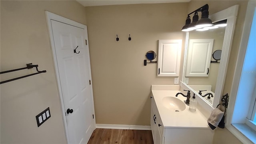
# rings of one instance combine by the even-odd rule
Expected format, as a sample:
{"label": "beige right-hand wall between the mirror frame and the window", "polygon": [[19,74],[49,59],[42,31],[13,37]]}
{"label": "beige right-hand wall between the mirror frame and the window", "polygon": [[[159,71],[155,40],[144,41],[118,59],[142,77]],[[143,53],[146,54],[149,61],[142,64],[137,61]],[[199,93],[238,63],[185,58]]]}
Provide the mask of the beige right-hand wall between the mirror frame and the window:
{"label": "beige right-hand wall between the mirror frame and the window", "polygon": [[[192,12],[193,10],[203,6],[204,4],[209,5],[209,13],[214,14],[218,11],[229,8],[230,6],[234,6],[236,4],[239,5],[238,16],[236,19],[236,27],[234,31],[234,38],[232,42],[232,48],[230,52],[230,59],[228,63],[228,70],[226,74],[226,81],[224,84],[224,90],[222,94],[230,94],[231,84],[234,76],[234,69],[236,66],[238,50],[240,46],[240,40],[242,36],[242,30],[244,26],[244,17],[246,14],[247,8],[247,0],[192,0],[188,6],[188,12]],[[219,129],[215,131],[214,134],[214,144],[240,144],[241,142],[231,134],[226,128]]]}

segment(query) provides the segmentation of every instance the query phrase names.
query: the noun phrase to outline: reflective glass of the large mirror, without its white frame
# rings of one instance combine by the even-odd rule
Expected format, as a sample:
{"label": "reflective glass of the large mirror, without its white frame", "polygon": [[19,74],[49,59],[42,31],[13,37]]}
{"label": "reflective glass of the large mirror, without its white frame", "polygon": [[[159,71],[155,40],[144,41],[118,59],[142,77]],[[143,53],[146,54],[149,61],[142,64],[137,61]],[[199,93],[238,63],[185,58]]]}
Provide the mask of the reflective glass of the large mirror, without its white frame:
{"label": "reflective glass of the large mirror, without its white frame", "polygon": [[[206,31],[193,30],[188,35],[184,80],[211,105],[214,101],[220,66],[216,59],[221,62],[225,29],[226,26]],[[209,41],[212,43],[210,46]]]}

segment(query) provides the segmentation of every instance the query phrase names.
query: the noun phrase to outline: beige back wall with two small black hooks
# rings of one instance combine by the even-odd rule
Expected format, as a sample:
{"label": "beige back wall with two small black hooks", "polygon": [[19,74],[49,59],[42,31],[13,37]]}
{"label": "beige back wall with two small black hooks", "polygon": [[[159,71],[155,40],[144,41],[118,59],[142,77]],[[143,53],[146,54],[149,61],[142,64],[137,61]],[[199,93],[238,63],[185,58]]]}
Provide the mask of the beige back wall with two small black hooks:
{"label": "beige back wall with two small black hooks", "polygon": [[157,77],[157,64],[143,60],[158,52],[157,40],[184,37],[187,4],[86,7],[97,124],[150,125],[151,85],[174,78]]}

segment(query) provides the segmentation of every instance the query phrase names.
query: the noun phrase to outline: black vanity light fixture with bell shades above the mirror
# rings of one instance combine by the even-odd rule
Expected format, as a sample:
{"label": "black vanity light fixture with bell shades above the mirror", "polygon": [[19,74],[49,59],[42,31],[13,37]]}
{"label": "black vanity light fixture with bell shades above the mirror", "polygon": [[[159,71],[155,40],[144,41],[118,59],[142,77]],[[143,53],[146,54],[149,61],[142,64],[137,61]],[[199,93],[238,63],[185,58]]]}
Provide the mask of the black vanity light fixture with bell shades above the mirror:
{"label": "black vanity light fixture with bell shades above the mirror", "polygon": [[[200,29],[200,28],[204,28],[207,26],[212,26],[212,20],[210,18],[208,18],[209,16],[209,6],[208,4],[198,8],[197,10],[194,10],[193,12],[191,12],[190,14],[194,13],[193,16],[193,21],[191,24],[188,25],[189,20],[190,20],[190,14],[188,14],[187,20],[186,20],[186,25],[183,26],[182,31],[191,31],[191,30],[195,30],[195,29]],[[200,20],[198,20],[198,12],[202,12],[202,17]],[[189,20],[188,20],[189,18]],[[190,20],[191,21],[191,20]],[[188,25],[188,26],[187,26]],[[199,30],[200,31],[200,30]],[[202,30],[201,30],[202,31]]]}

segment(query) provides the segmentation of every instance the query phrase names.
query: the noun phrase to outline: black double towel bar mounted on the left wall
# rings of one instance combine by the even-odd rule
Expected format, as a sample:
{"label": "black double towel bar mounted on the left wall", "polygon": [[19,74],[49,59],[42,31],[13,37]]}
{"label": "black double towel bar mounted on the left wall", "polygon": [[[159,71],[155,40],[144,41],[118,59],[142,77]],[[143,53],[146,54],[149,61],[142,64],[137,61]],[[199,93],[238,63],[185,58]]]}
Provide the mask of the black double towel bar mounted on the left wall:
{"label": "black double towel bar mounted on the left wall", "polygon": [[26,78],[28,76],[33,76],[33,75],[36,75],[36,74],[40,74],[40,73],[46,72],[46,70],[39,71],[38,70],[38,65],[32,65],[32,63],[30,63],[30,64],[27,64],[27,67],[25,67],[25,68],[17,68],[17,69],[14,69],[14,70],[7,70],[7,71],[4,71],[4,72],[0,72],[0,74],[4,74],[4,73],[8,73],[8,72],[14,72],[14,71],[17,71],[17,70],[30,69],[30,68],[34,68],[34,67],[36,67],[37,73],[28,74],[26,76],[20,76],[18,78],[12,78],[10,80],[5,80],[5,81],[0,82],[0,84],[6,83],[6,82],[11,82],[11,81],[14,81],[14,80],[18,80],[18,79],[21,79],[21,78]]}

